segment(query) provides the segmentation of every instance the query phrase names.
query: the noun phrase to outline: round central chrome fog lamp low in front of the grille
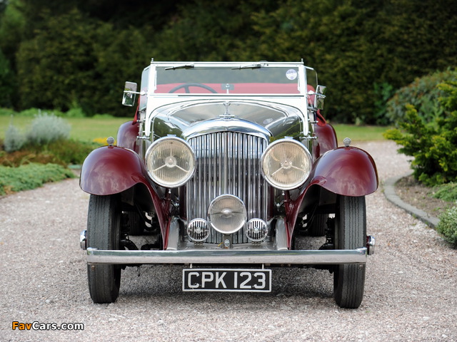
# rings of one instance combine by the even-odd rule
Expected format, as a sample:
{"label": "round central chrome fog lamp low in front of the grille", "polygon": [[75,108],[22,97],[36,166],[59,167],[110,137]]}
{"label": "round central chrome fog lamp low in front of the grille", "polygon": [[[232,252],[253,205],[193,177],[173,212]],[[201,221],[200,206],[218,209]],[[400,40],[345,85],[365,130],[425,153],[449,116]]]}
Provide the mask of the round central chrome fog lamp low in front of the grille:
{"label": "round central chrome fog lamp low in front of the grille", "polygon": [[209,204],[208,223],[219,233],[238,232],[246,224],[246,219],[246,207],[236,196],[221,195]]}

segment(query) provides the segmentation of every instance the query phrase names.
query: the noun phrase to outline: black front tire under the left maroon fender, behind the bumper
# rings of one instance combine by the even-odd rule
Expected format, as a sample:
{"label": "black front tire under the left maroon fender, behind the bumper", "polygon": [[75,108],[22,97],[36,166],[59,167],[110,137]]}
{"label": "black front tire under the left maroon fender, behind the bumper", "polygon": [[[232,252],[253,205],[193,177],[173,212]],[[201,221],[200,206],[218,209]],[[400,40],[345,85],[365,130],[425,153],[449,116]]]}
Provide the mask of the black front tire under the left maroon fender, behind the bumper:
{"label": "black front tire under the left maroon fender, behind the bumper", "polygon": [[[119,249],[121,210],[115,195],[91,195],[87,217],[87,247]],[[87,265],[89,293],[94,303],[113,303],[119,296],[121,266]]]}

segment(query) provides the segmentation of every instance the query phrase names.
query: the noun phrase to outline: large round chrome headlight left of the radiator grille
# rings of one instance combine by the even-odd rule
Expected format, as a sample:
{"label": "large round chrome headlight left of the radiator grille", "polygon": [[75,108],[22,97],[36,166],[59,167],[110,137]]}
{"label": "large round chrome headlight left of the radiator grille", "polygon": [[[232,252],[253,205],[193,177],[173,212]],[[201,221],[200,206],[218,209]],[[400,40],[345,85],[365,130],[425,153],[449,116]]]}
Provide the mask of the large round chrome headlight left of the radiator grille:
{"label": "large round chrome headlight left of the radiator grille", "polygon": [[194,150],[180,138],[161,138],[146,152],[146,169],[158,185],[180,187],[194,175]]}

